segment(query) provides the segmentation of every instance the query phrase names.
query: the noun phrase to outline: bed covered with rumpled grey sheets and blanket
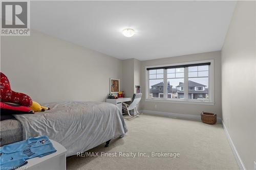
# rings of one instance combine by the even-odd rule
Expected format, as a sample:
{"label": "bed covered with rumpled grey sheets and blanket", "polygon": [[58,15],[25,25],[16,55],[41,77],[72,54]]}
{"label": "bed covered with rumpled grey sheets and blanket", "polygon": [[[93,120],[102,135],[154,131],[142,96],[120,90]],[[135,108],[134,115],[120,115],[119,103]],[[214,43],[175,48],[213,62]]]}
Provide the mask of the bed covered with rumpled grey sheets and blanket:
{"label": "bed covered with rumpled grey sheets and blanket", "polygon": [[1,145],[47,135],[62,144],[67,156],[76,155],[110,139],[122,137],[127,128],[119,109],[102,102],[47,103],[50,110],[16,114],[1,121]]}

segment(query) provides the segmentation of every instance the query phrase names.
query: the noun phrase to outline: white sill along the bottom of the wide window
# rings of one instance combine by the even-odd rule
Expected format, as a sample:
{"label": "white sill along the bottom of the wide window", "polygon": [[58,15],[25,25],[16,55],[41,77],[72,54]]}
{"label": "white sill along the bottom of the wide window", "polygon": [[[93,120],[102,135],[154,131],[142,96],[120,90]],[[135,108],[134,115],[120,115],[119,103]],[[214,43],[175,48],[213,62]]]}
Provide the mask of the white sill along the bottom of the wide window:
{"label": "white sill along the bottom of the wide window", "polygon": [[172,100],[172,99],[145,99],[145,102],[163,102],[163,103],[179,103],[179,104],[196,104],[196,105],[211,105],[214,102],[192,101],[192,100]]}

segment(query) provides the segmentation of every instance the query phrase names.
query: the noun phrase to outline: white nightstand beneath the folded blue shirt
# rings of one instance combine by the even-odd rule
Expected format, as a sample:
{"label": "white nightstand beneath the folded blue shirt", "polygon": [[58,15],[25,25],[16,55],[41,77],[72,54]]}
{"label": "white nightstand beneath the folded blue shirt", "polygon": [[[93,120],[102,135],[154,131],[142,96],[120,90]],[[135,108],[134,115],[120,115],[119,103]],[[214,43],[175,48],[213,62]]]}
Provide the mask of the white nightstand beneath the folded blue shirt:
{"label": "white nightstand beneath the folded blue shirt", "polygon": [[65,170],[66,169],[66,153],[67,150],[58,142],[51,140],[53,147],[57,150],[56,152],[46,155],[44,157],[35,157],[28,160],[28,163],[18,169],[54,169],[54,170]]}

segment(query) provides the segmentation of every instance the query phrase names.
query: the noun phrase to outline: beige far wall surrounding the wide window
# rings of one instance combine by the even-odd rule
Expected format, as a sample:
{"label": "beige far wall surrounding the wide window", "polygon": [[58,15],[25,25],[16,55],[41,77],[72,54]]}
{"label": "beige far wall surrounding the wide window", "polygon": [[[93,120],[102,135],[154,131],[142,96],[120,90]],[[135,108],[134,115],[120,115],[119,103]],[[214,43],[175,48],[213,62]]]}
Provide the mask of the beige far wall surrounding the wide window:
{"label": "beige far wall surrounding the wide window", "polygon": [[179,103],[160,103],[160,102],[145,102],[145,95],[141,101],[141,108],[143,110],[161,111],[170,113],[181,113],[200,115],[202,111],[217,113],[219,117],[221,114],[221,52],[201,53],[194,55],[186,55],[179,57],[169,57],[156,60],[141,61],[141,90],[145,94],[145,66],[191,62],[200,60],[214,59],[215,65],[215,105],[198,105],[198,104],[179,104]]}

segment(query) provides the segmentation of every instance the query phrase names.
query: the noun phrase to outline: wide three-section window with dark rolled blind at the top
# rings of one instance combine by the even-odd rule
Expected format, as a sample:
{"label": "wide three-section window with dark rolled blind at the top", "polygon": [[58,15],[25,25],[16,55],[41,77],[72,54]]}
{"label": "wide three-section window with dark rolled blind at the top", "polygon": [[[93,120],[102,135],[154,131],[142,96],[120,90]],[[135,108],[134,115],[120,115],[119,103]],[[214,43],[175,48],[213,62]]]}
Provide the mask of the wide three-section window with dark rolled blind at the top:
{"label": "wide three-section window with dark rolled blind at the top", "polygon": [[213,102],[213,64],[207,60],[146,67],[147,99]]}

